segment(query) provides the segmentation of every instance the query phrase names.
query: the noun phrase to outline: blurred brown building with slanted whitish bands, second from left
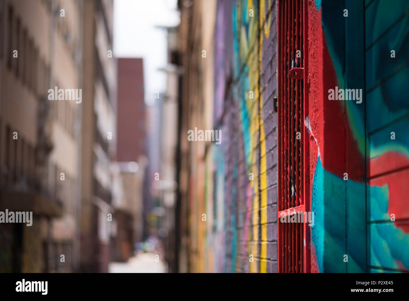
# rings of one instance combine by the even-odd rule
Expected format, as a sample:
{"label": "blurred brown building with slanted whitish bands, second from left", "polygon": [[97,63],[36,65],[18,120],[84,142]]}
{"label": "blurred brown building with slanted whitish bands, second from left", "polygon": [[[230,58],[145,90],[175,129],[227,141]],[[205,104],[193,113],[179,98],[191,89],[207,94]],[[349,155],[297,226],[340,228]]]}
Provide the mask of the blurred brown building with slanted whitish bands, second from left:
{"label": "blurred brown building with slanted whitish bands, second from left", "polygon": [[111,161],[117,146],[117,62],[112,0],[83,2],[81,116],[81,271],[107,272],[112,208]]}

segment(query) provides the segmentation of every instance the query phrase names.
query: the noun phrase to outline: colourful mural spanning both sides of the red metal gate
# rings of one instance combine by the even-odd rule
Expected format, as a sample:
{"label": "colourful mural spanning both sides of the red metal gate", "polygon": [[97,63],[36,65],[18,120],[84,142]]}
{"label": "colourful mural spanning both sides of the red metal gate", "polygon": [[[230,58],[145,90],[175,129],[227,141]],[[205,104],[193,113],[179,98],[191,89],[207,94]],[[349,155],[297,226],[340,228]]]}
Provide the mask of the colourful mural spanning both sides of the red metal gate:
{"label": "colourful mural spanning both sides of the red metal gate", "polygon": [[[409,4],[396,4],[308,1],[311,272],[409,271]],[[204,186],[191,180],[190,261],[200,272],[276,272],[276,1],[219,0],[214,13],[223,143],[195,167]],[[335,87],[360,99],[329,100]]]}

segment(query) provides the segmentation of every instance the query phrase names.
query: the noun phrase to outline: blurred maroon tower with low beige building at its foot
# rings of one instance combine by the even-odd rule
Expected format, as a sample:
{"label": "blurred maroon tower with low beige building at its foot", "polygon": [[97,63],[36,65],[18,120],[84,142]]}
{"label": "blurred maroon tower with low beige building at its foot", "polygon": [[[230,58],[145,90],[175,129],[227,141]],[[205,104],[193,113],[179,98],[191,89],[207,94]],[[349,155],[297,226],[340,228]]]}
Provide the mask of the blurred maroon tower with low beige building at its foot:
{"label": "blurred maroon tower with low beige building at its foot", "polygon": [[146,108],[142,58],[118,59],[117,155],[113,163],[115,232],[111,259],[126,261],[142,241],[146,214]]}

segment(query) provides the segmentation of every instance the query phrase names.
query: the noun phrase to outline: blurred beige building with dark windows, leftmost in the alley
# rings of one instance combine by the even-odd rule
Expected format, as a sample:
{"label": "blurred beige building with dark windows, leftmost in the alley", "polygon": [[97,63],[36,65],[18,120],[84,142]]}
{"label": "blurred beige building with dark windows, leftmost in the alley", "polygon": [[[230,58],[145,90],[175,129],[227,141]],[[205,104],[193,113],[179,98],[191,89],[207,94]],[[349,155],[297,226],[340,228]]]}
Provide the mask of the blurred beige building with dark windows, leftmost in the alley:
{"label": "blurred beige building with dark windows, leftmost in the alley", "polygon": [[34,219],[1,225],[0,266],[70,272],[79,259],[81,106],[50,101],[48,90],[80,85],[82,3],[6,0],[0,9],[0,210],[33,211]]}

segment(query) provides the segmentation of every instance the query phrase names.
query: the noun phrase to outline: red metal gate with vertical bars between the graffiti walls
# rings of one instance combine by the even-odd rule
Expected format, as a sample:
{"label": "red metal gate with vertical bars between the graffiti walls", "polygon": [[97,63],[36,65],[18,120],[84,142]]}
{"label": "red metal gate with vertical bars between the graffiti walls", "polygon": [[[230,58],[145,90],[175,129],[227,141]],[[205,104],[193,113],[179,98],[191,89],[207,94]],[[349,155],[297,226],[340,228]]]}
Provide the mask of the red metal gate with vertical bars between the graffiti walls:
{"label": "red metal gate with vertical bars between the graffiti walls", "polygon": [[[287,217],[310,210],[308,90],[306,90],[308,0],[281,0],[278,32],[278,270],[310,271],[308,222],[287,222]],[[307,124],[308,126],[308,124]],[[281,218],[285,222],[281,222]],[[303,217],[305,217],[303,215]]]}

